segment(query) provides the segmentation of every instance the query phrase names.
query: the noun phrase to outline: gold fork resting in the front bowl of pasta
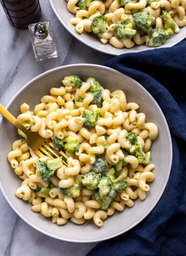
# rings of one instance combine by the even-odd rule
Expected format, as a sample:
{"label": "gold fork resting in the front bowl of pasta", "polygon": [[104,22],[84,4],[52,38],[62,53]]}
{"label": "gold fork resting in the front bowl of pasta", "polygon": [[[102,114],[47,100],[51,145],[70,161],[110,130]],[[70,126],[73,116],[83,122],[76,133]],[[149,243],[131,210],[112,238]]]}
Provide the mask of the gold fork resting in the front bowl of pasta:
{"label": "gold fork resting in the front bowl of pasta", "polygon": [[[62,155],[65,159],[68,158],[63,151],[53,150],[54,147],[51,140],[41,137],[38,132],[31,132],[27,130],[27,128],[25,128],[5,107],[3,107],[2,104],[0,104],[0,114],[27,136],[28,147],[31,148],[39,157],[47,155],[53,159]],[[62,162],[66,164],[66,161],[63,159]]]}

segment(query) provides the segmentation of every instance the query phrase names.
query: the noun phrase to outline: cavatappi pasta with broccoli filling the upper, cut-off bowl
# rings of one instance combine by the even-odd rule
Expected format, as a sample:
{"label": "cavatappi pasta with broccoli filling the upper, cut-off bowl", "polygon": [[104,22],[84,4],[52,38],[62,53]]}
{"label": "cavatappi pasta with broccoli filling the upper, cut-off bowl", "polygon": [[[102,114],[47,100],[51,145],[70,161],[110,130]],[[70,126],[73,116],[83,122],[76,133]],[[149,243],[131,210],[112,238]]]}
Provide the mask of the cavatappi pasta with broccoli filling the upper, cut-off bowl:
{"label": "cavatappi pasta with broccoli filling the upper, cut-off bowl", "polygon": [[159,47],[186,26],[186,0],[67,0],[76,32],[93,32],[103,44]]}

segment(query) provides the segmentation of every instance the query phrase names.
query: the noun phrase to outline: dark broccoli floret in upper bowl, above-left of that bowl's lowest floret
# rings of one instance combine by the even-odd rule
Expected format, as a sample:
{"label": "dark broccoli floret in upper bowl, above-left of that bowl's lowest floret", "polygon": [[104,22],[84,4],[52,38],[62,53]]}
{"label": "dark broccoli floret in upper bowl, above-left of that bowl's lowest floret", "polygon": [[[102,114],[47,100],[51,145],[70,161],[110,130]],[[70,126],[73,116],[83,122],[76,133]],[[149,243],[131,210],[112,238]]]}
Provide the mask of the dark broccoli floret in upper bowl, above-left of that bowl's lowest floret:
{"label": "dark broccoli floret in upper bowl, above-left of that bowl's lowest floret", "polygon": [[153,23],[153,15],[152,13],[134,13],[133,20],[141,30],[146,31]]}

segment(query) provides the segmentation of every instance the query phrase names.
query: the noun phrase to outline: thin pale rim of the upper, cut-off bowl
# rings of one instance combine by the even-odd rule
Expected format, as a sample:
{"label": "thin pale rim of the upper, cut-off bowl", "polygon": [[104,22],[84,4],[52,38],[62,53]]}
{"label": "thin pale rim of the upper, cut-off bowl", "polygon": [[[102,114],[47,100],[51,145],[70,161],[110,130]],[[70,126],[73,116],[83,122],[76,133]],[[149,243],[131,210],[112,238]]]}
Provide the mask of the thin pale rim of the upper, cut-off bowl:
{"label": "thin pale rim of the upper, cut-off bowl", "polygon": [[[149,51],[149,50],[155,50],[155,49],[159,49],[159,48],[173,47],[173,46],[177,45],[179,42],[181,42],[182,40],[184,40],[184,39],[186,38],[186,34],[184,35],[184,33],[183,33],[183,36],[182,36],[179,40],[177,40],[176,42],[173,40],[173,42],[170,43],[168,46],[165,45],[165,44],[163,44],[163,45],[161,45],[160,47],[156,47],[156,48],[149,48],[149,47],[146,47],[145,50],[139,50],[139,51],[136,51],[136,52],[131,52],[131,51],[127,51],[126,53],[125,53],[125,52],[123,52],[123,53],[113,53],[113,52],[109,52],[109,51],[107,51],[107,50],[100,49],[99,47],[96,47],[96,46],[94,46],[93,44],[88,43],[86,40],[82,39],[82,38],[79,36],[78,33],[74,33],[73,30],[70,29],[70,28],[66,25],[66,23],[63,22],[63,20],[61,20],[60,15],[57,13],[56,8],[54,7],[53,0],[49,0],[49,3],[50,3],[50,5],[51,5],[51,7],[52,7],[52,9],[53,9],[53,12],[55,13],[56,17],[58,18],[58,20],[60,20],[60,22],[61,22],[61,24],[63,25],[63,27],[65,27],[66,30],[67,30],[70,34],[72,34],[76,39],[78,39],[80,42],[82,42],[82,43],[85,44],[86,46],[91,47],[91,48],[93,48],[94,50],[97,50],[97,51],[102,52],[102,53],[105,53],[105,54],[110,54],[110,55],[113,55],[113,56],[119,56],[120,54],[129,54],[129,53],[134,53],[134,54],[135,54],[135,53],[144,52],[144,51]],[[114,47],[113,47],[113,48],[114,48]],[[130,49],[127,49],[127,50],[130,50]]]}

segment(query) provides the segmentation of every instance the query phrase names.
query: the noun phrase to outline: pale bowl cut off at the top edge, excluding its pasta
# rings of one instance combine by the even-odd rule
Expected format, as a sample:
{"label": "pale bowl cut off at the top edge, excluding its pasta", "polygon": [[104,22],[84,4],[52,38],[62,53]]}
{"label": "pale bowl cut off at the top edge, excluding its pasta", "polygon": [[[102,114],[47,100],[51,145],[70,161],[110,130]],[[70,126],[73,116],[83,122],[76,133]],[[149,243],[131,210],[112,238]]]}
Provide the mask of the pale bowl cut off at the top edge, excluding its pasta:
{"label": "pale bowl cut off at the top edge, excluding its pasta", "polygon": [[[120,55],[120,54],[137,53],[141,51],[154,49],[152,47],[146,47],[145,44],[140,46],[136,45],[131,49],[127,49],[127,48],[117,49],[112,45],[110,45],[109,43],[105,45],[102,44],[99,38],[93,33],[83,32],[82,34],[79,34],[76,32],[75,26],[70,23],[70,19],[75,17],[75,14],[70,13],[68,11],[66,0],[49,0],[49,2],[51,4],[51,7],[53,8],[54,13],[58,17],[62,25],[68,30],[68,32],[70,32],[74,37],[76,37],[82,43],[86,44],[87,46],[97,51],[103,52],[105,54]],[[173,34],[169,36],[169,38],[163,43],[163,45],[157,48],[172,47],[178,44],[184,38],[186,38],[186,27],[182,27],[180,30],[181,32],[179,34]]]}

